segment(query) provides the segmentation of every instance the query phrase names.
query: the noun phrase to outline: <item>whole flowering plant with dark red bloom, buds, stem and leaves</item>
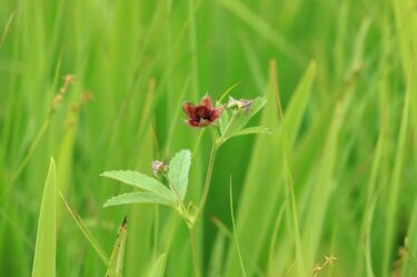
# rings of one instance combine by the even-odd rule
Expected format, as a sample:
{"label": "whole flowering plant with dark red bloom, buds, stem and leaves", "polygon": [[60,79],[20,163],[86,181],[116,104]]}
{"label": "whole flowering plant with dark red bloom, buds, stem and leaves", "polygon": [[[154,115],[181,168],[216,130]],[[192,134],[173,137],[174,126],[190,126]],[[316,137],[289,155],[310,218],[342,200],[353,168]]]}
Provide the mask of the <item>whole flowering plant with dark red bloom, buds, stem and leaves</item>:
{"label": "whole flowering plant with dark red bloom, buds, stem and leaves", "polygon": [[[111,178],[127,185],[135,186],[142,191],[135,191],[118,195],[106,201],[105,207],[127,205],[127,204],[158,204],[175,209],[186,221],[190,234],[195,271],[200,276],[200,266],[197,257],[197,246],[193,229],[201,212],[206,206],[212,169],[217,151],[232,137],[249,133],[269,132],[265,127],[245,128],[250,118],[252,118],[266,103],[264,98],[254,100],[229,98],[226,105],[214,108],[211,99],[205,96],[199,106],[190,102],[183,103],[183,111],[188,117],[187,123],[196,128],[207,127],[211,135],[211,152],[206,171],[206,180],[201,200],[198,206],[191,201],[185,202],[189,182],[189,170],[191,167],[191,151],[180,150],[167,165],[163,161],[152,161],[155,175],[162,175],[168,186],[165,186],[158,179],[131,170],[106,171],[102,177]],[[219,125],[215,121],[219,119]]]}

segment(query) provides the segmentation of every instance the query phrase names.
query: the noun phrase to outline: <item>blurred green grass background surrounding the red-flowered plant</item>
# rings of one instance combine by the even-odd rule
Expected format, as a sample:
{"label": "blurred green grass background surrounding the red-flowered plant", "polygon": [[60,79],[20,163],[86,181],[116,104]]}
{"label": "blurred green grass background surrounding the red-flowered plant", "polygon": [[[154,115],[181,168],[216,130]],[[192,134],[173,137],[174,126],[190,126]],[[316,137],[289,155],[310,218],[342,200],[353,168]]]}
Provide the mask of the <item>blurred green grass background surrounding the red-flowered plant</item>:
{"label": "blurred green grass background surrounding the red-flowered plant", "polygon": [[[125,276],[163,267],[166,276],[193,276],[176,215],[155,206],[103,209],[123,188],[98,175],[150,174],[151,160],[193,149],[198,131],[182,123],[181,102],[206,91],[219,98],[240,82],[236,98],[267,96],[255,120],[274,133],[220,150],[197,229],[203,270],[241,275],[230,233],[232,176],[248,276],[312,276],[324,255],[338,259],[319,276],[416,276],[415,33],[413,0],[2,1],[0,273],[31,273],[53,156],[57,187],[108,254],[128,216]],[[76,79],[51,112],[67,75]],[[208,151],[203,136],[187,196],[193,202]],[[63,202],[57,212],[57,275],[103,276]]]}

